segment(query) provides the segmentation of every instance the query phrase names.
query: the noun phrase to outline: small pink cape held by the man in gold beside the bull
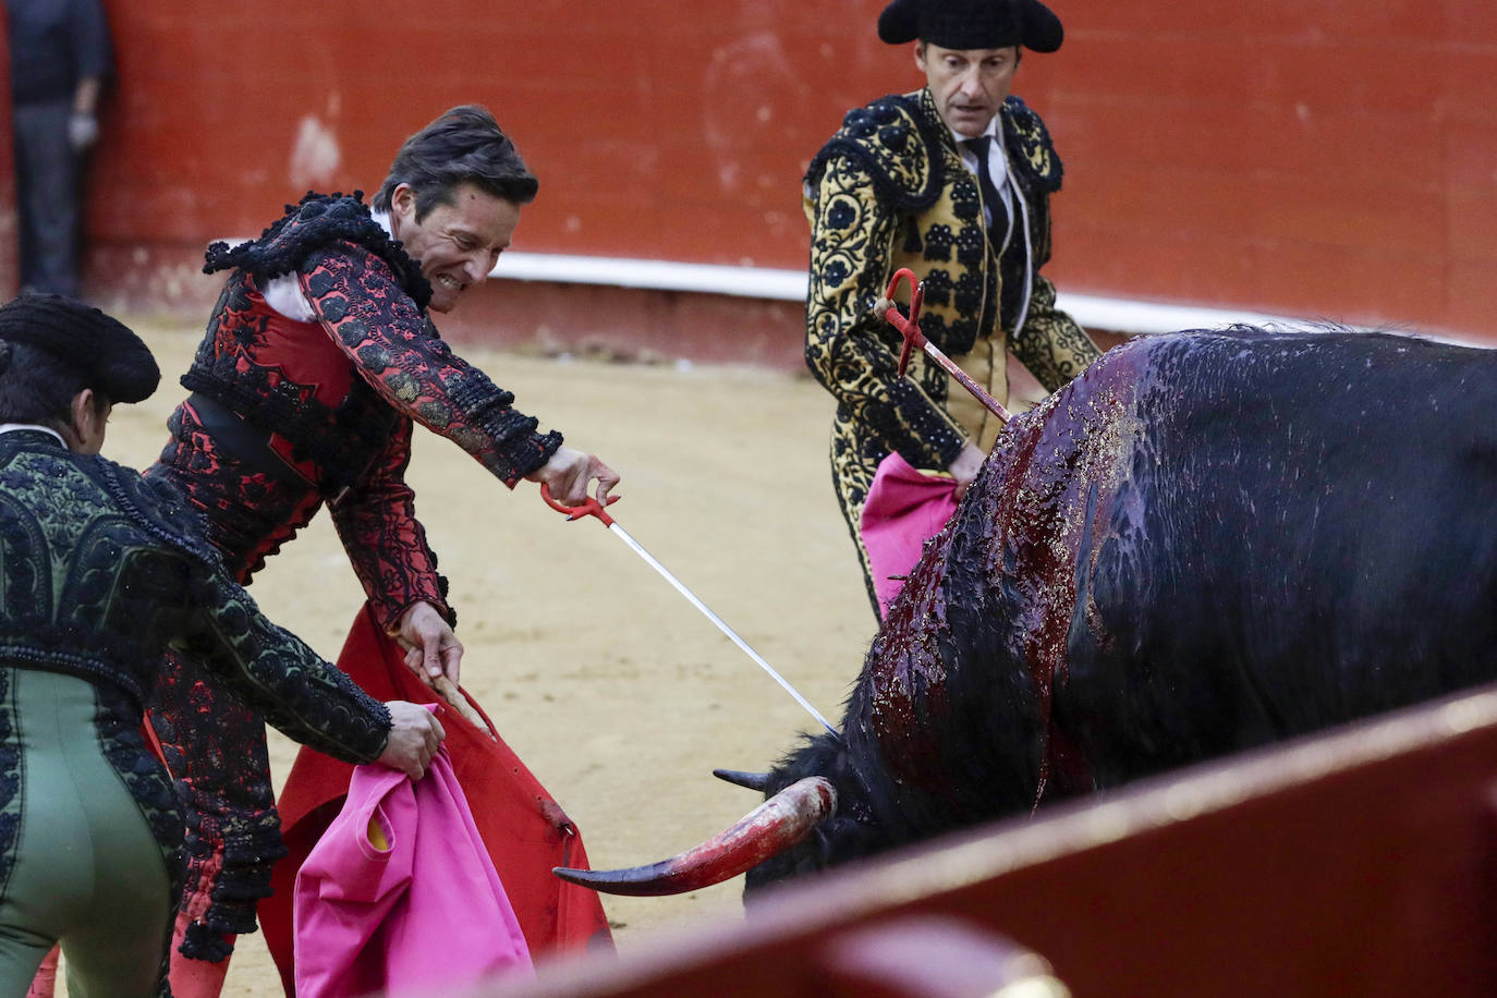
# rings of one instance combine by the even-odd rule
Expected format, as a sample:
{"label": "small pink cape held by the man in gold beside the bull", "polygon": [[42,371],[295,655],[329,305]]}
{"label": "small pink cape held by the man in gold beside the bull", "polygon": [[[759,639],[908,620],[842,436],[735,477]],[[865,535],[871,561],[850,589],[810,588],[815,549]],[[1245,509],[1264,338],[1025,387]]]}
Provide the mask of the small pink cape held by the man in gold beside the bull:
{"label": "small pink cape held by the man in gold beside the bull", "polygon": [[957,480],[948,474],[921,471],[898,453],[879,462],[858,525],[879,616],[904,588],[904,576],[921,560],[925,542],[957,512],[955,495]]}

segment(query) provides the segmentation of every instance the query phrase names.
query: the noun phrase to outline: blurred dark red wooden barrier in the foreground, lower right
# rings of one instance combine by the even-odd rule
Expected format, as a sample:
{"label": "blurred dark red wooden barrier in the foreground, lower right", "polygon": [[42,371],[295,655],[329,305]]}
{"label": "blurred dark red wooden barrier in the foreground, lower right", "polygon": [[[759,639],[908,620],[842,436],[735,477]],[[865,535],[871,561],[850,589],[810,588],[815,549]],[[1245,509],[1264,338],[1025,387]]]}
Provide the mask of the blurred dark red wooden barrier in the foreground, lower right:
{"label": "blurred dark red wooden barrier in the foreground, lower right", "polygon": [[1012,940],[1076,998],[1487,997],[1494,847],[1487,688],[838,871],[741,925],[491,994],[1007,995]]}

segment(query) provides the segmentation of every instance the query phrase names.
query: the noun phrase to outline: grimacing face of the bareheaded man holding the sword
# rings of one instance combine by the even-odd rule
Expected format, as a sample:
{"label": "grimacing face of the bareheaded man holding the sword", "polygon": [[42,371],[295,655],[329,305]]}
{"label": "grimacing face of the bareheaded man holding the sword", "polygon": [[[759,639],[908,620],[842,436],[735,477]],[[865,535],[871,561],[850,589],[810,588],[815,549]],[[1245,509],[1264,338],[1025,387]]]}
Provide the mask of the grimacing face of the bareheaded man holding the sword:
{"label": "grimacing face of the bareheaded man holding the sword", "polygon": [[488,280],[519,224],[519,205],[475,184],[458,184],[451,205],[416,221],[416,192],[400,184],[389,199],[392,235],[431,281],[431,311],[452,311],[470,287]]}

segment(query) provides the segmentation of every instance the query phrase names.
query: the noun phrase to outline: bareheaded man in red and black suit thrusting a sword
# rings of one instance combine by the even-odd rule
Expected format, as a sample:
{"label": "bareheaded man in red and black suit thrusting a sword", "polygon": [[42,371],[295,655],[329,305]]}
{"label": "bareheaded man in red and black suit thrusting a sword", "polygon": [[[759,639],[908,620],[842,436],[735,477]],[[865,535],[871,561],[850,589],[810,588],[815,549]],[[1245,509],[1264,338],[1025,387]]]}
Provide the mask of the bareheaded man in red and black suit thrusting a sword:
{"label": "bareheaded man in red and black suit thrusting a sword", "polygon": [[[413,422],[510,488],[540,482],[576,504],[590,482],[600,501],[618,482],[560,434],[539,432],[428,316],[484,283],[536,190],[494,117],[454,108],[406,141],[373,212],[358,196],[308,195],[259,239],[210,247],[205,269],[229,277],[183,377],[192,395],[147,473],[187,492],[244,582],[326,504],[407,664],[454,682],[455,615],[404,482]],[[151,720],[190,812],[178,931],[196,959],[174,953],[172,988],[211,995],[284,854],[263,727],[184,657],[166,670]]]}

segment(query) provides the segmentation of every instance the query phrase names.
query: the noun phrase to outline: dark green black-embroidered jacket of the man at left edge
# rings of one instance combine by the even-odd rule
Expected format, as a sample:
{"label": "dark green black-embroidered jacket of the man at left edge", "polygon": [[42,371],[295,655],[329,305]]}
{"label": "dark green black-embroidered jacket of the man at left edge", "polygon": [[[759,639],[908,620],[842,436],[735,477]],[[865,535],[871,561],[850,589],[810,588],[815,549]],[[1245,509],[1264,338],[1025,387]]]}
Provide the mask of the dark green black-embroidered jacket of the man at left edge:
{"label": "dark green black-embroidered jacket of the man at left edge", "polygon": [[0,663],[82,676],[139,711],[180,648],[290,738],[379,757],[389,711],[269,622],[174,486],[48,432],[0,434]]}

